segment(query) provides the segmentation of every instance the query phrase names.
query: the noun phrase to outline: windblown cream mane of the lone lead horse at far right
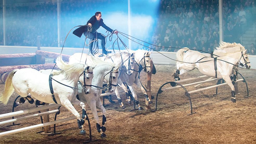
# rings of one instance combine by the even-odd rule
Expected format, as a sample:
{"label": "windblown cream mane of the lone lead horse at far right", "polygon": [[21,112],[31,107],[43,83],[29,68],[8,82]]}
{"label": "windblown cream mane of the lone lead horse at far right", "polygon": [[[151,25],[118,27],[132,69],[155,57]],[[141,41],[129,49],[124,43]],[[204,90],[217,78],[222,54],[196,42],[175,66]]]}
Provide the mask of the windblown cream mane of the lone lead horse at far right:
{"label": "windblown cream mane of the lone lead horse at far right", "polygon": [[220,42],[220,46],[214,49],[215,53],[234,53],[244,51],[245,48],[240,43],[228,43],[228,42]]}

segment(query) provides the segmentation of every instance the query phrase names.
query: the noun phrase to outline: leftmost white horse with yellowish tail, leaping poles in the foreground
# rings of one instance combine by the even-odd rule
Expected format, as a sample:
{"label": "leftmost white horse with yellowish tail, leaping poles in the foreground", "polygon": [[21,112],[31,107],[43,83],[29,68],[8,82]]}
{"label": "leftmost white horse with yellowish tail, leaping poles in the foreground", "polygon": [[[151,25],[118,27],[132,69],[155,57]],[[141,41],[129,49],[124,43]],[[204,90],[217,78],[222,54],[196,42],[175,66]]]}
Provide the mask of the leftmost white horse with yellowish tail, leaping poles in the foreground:
{"label": "leftmost white horse with yellowish tail, leaping poles in the foreground", "polygon": [[[81,129],[80,134],[85,134],[83,127],[86,119],[84,114],[86,112],[85,104],[76,99],[78,90],[75,87],[80,74],[85,68],[89,69],[89,67],[79,63],[67,64],[61,57],[56,59],[56,64],[61,70],[54,71],[53,75],[50,76],[31,68],[11,71],[5,82],[5,89],[0,101],[6,105],[15,90],[21,97],[27,97],[30,93],[41,102],[59,103],[76,116],[78,127]],[[52,82],[52,88],[50,88],[50,81]],[[82,119],[72,104],[82,108]]]}

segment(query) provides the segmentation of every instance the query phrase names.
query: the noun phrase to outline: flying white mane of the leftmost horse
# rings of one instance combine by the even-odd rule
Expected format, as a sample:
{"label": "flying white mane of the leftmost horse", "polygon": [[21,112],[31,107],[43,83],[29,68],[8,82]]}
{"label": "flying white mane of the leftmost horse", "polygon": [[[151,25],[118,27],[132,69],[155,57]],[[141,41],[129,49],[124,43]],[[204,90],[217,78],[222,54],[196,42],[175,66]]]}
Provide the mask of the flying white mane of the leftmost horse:
{"label": "flying white mane of the leftmost horse", "polygon": [[82,71],[85,69],[85,66],[86,66],[80,63],[73,63],[73,64],[65,63],[62,60],[62,56],[57,57],[56,65],[59,67],[60,70],[53,71],[52,74],[53,75],[64,74],[65,78],[71,78],[71,76],[74,73],[82,73]]}

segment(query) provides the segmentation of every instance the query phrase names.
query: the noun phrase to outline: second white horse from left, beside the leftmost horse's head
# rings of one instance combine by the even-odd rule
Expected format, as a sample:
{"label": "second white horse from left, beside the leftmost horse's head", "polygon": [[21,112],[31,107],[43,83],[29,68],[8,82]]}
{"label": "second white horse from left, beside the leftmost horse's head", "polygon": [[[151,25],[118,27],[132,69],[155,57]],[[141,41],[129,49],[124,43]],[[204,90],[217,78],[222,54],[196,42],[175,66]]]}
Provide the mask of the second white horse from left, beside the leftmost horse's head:
{"label": "second white horse from left, beside the leftmost horse's head", "polygon": [[[80,61],[81,58],[81,61]],[[92,110],[93,117],[96,121],[96,127],[98,132],[101,134],[101,138],[105,138],[106,134],[104,133],[106,131],[106,109],[102,105],[100,101],[100,94],[102,92],[102,84],[104,79],[107,81],[107,89],[109,92],[114,92],[117,86],[117,79],[118,79],[118,69],[119,69],[119,64],[114,64],[110,62],[104,62],[100,60],[99,58],[92,57],[92,56],[87,56],[86,54],[81,53],[75,53],[71,57],[69,57],[69,63],[73,62],[80,62],[80,63],[85,63],[89,65],[95,65],[95,68],[93,70],[94,77],[92,80],[92,89],[90,94],[85,94],[84,91],[79,90],[78,91],[78,96],[79,99],[83,102],[87,102],[89,107]],[[81,83],[83,83],[83,78],[80,77]],[[82,87],[80,84],[78,87]],[[100,108],[102,111],[102,126],[100,126],[99,123],[99,117],[97,114],[97,109]]]}

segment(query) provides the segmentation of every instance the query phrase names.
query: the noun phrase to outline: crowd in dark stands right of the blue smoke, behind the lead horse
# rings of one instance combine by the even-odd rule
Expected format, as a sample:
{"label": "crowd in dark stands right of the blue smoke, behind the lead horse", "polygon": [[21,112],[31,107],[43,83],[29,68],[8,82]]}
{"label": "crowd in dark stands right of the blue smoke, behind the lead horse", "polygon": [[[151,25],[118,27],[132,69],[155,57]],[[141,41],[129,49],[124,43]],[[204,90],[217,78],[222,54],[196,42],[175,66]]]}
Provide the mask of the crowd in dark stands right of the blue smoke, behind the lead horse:
{"label": "crowd in dark stands right of the blue smoke, behind the lead horse", "polygon": [[[211,51],[219,45],[218,0],[161,0],[160,3],[157,29],[151,38],[157,45],[153,49],[176,52],[177,48],[188,47]],[[255,1],[224,0],[222,13],[223,41],[240,43],[241,34],[255,22]]]}

